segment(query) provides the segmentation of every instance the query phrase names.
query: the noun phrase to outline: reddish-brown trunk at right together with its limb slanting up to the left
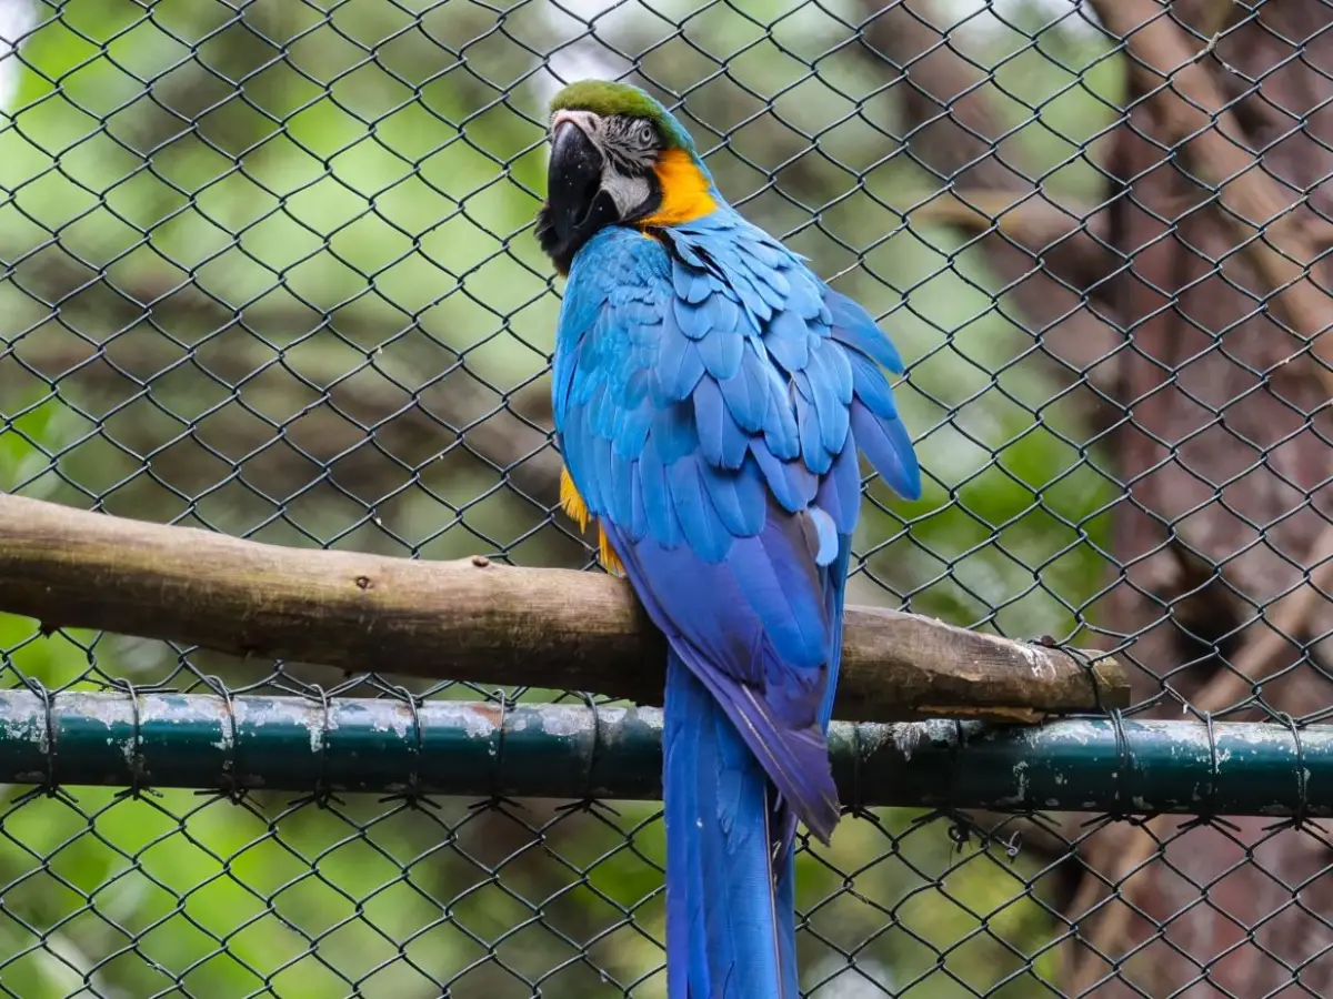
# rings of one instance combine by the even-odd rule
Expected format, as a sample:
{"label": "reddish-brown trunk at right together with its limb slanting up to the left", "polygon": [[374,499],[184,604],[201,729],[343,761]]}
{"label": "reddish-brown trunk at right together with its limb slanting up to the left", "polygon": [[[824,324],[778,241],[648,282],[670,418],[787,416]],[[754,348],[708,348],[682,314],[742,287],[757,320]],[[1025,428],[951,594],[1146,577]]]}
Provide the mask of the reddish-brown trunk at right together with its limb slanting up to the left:
{"label": "reddish-brown trunk at right together with its limb slanting up to the left", "polygon": [[[1088,220],[1114,258],[1042,256],[1050,233],[1030,228],[1017,240],[1030,258],[1013,238],[980,244],[1006,286],[1041,258],[1046,273],[1009,288],[1029,332],[1053,368],[1081,370],[1120,402],[1109,418],[1096,406],[1089,425],[1112,428],[1125,484],[1112,555],[1125,569],[1088,617],[1129,663],[1148,714],[1180,718],[1189,702],[1197,717],[1310,715],[1333,703],[1320,641],[1333,633],[1324,595],[1333,593],[1333,421],[1321,409],[1333,368],[1317,358],[1333,350],[1333,334],[1328,346],[1316,341],[1333,324],[1328,269],[1316,262],[1333,241],[1333,192],[1322,188],[1333,170],[1329,8],[1090,7],[1124,40],[1129,77],[1132,111],[1104,163],[1120,188],[1108,186],[1109,208]],[[1030,181],[994,161],[993,143],[986,159],[984,139],[1004,129],[977,88],[984,73],[940,44],[949,17],[929,0],[872,3],[866,13],[868,47],[904,73],[896,89],[906,129],[920,128],[918,159],[957,172],[964,201],[1030,194]],[[1008,145],[1002,155],[1021,163]],[[1002,218],[960,224],[1005,229]],[[1081,282],[1053,269],[1070,257],[1088,272]],[[1061,320],[1070,285],[1092,308]],[[1261,699],[1250,679],[1265,681]],[[1316,915],[1333,911],[1333,880],[1317,876],[1333,862],[1324,836],[1265,819],[1089,831],[1085,818],[1064,826],[1078,843],[1077,883],[1053,892],[1078,940],[1064,955],[1066,994],[1270,995],[1297,966],[1304,994],[1333,994],[1333,956],[1321,954],[1333,930]],[[1068,850],[1049,834],[1028,842],[1053,859]]]}

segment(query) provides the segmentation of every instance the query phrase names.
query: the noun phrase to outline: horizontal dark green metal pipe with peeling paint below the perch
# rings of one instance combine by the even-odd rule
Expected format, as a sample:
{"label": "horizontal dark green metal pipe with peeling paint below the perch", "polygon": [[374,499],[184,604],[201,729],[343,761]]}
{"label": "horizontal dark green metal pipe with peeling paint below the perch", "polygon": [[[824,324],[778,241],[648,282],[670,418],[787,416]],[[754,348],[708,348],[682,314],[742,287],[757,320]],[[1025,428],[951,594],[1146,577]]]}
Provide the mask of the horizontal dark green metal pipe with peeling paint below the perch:
{"label": "horizontal dark green metal pipe with peeling paint below the perch", "polygon": [[[1333,726],[836,722],[829,743],[846,805],[1333,815]],[[657,799],[660,773],[656,709],[0,691],[8,783]]]}

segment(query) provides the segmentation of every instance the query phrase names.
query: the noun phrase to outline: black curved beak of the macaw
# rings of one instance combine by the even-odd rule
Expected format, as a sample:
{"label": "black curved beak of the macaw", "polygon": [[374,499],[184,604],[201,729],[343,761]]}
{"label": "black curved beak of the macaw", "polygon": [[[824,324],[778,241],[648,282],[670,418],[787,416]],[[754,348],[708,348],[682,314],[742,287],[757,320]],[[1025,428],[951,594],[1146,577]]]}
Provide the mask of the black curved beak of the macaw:
{"label": "black curved beak of the macaw", "polygon": [[573,121],[551,137],[547,204],[537,217],[537,240],[560,273],[600,228],[619,221],[616,202],[601,189],[603,155]]}

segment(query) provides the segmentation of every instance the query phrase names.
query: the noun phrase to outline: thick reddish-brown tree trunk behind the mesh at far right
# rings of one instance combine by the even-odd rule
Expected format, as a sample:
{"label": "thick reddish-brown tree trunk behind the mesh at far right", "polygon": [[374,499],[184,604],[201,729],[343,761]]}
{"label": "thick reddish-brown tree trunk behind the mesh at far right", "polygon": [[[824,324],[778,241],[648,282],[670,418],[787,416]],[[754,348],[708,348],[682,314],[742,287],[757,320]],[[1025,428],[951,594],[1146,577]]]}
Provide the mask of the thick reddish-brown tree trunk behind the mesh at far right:
{"label": "thick reddish-brown tree trunk behind the mesh at far right", "polygon": [[[1180,24],[1150,0],[1118,12],[1110,3],[1097,8],[1108,8],[1104,21],[1128,37],[1130,63],[1141,56],[1138,32],[1169,31],[1160,37],[1188,57],[1206,41],[1181,24],[1204,39],[1226,31],[1196,63],[1233,111],[1229,123],[1210,128],[1246,148],[1256,178],[1278,192],[1281,209],[1292,213],[1278,224],[1294,224],[1321,250],[1333,208],[1321,188],[1333,168],[1328,7],[1284,0],[1250,16],[1229,3],[1194,0],[1173,5]],[[1129,31],[1116,21],[1129,21]],[[1152,28],[1134,32],[1136,23]],[[1126,418],[1113,437],[1128,494],[1116,511],[1113,554],[1126,569],[1096,618],[1128,642],[1129,661],[1141,667],[1130,666],[1134,699],[1160,697],[1161,717],[1178,718],[1181,698],[1196,711],[1256,703],[1242,675],[1278,673],[1262,685],[1262,707],[1232,717],[1264,718],[1265,707],[1309,715],[1333,702],[1320,662],[1328,646],[1310,645],[1333,629],[1333,605],[1304,583],[1306,570],[1318,579],[1317,566],[1329,557],[1333,426],[1320,410],[1330,393],[1305,340],[1333,318],[1328,272],[1316,264],[1310,274],[1320,285],[1320,329],[1300,329],[1272,308],[1281,289],[1242,250],[1254,238],[1244,221],[1268,220],[1237,220],[1218,204],[1201,177],[1202,136],[1164,141],[1169,101],[1181,104],[1177,88],[1137,103],[1162,85],[1161,76],[1132,69],[1134,109],[1116,133],[1109,164],[1126,185],[1109,225],[1128,262],[1112,294],[1132,346],[1121,354],[1117,393]],[[1134,951],[1120,978],[1150,995],[1270,995],[1304,962],[1312,962],[1300,972],[1304,988],[1333,991],[1333,958],[1316,958],[1333,932],[1314,915],[1333,908],[1333,883],[1316,878],[1333,859],[1329,844],[1257,818],[1230,829],[1182,825],[1120,825],[1088,842],[1088,862],[1120,896],[1102,902],[1105,888],[1088,875],[1066,915],[1081,922],[1092,947],[1069,955],[1064,984],[1089,988],[1112,972],[1101,955]],[[1094,994],[1134,992],[1110,979]]]}

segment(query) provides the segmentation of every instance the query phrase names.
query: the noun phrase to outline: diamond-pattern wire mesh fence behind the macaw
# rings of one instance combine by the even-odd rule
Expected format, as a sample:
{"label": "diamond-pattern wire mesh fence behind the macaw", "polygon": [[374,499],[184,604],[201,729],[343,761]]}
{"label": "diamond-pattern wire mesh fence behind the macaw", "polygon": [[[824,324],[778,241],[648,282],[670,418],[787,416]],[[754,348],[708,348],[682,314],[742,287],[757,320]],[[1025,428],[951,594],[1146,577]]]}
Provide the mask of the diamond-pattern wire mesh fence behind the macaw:
{"label": "diamond-pattern wire mesh fence behind the macaw", "polygon": [[[0,488],[591,569],[555,511],[531,222],[547,97],[633,71],[909,358],[926,494],[868,485],[853,602],[1100,643],[1145,714],[1320,721],[1333,369],[1302,268],[1329,241],[1329,13],[0,0]],[[51,690],[389,690],[4,617],[0,655]],[[665,994],[655,807],[4,802],[8,995]],[[1329,994],[1328,846],[857,815],[802,846],[802,988]]]}

